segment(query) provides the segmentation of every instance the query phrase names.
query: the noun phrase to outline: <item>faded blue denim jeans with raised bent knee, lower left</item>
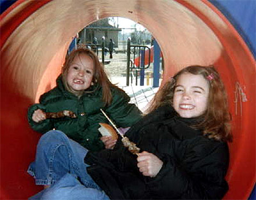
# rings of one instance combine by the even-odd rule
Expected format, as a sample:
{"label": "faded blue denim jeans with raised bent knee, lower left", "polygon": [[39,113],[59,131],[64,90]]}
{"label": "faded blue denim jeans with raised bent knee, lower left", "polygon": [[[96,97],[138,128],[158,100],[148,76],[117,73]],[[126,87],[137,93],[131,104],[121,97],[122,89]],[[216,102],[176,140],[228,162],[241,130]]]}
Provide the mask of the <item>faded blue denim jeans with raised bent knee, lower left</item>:
{"label": "faded blue denim jeans with raised bent knee, lower left", "polygon": [[61,131],[49,131],[38,142],[28,173],[36,185],[51,185],[31,199],[109,199],[86,171],[88,150]]}

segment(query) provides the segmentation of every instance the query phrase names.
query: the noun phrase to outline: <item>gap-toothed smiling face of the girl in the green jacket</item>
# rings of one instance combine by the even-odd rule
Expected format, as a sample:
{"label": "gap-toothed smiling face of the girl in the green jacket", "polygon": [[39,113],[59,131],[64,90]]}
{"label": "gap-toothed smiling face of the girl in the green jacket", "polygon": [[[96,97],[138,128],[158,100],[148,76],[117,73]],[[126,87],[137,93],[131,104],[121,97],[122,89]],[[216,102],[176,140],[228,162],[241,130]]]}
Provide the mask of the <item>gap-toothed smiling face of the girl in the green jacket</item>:
{"label": "gap-toothed smiling face of the girl in the green jacket", "polygon": [[86,54],[77,55],[67,73],[67,83],[72,92],[88,89],[92,83],[93,73],[93,59]]}

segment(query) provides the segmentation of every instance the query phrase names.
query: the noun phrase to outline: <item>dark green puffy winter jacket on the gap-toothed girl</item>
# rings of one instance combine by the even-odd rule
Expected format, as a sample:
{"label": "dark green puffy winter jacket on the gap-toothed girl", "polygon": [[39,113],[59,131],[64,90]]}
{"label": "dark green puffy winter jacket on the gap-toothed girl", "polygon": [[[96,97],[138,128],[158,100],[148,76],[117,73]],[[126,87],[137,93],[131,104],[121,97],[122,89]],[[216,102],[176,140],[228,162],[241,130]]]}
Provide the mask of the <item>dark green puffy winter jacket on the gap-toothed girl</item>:
{"label": "dark green puffy winter jacket on the gap-toothed girl", "polygon": [[[102,87],[99,85],[93,85],[90,88],[93,92],[85,92],[78,98],[65,89],[61,76],[56,82],[57,86],[54,89],[40,96],[40,104],[29,107],[28,121],[31,128],[37,132],[44,134],[52,129],[60,130],[88,150],[98,151],[104,148],[104,144],[99,139],[101,137],[98,131],[99,122],[109,124],[100,108],[117,127],[129,127],[141,118],[140,110],[134,104],[129,104],[130,97],[122,90],[111,88],[113,101],[109,106],[104,106]],[[37,109],[45,112],[70,110],[76,113],[77,118],[51,118],[37,123],[32,120],[32,115]]]}

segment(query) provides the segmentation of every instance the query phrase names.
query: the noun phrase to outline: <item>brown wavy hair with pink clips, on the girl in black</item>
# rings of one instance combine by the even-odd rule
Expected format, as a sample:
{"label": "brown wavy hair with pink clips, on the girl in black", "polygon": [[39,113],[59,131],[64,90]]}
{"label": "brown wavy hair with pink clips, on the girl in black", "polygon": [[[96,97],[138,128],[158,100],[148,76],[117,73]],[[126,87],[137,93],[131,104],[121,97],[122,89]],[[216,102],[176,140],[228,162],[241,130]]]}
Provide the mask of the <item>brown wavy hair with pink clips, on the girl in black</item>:
{"label": "brown wavy hair with pink clips, on the girl in black", "polygon": [[218,71],[214,66],[188,66],[174,75],[170,81],[166,82],[152,101],[152,106],[147,113],[156,110],[160,106],[172,105],[173,94],[176,82],[180,75],[191,73],[202,75],[210,85],[207,110],[201,116],[200,124],[195,125],[196,129],[204,130],[204,135],[220,141],[232,141],[230,133],[230,113],[228,111],[227,92],[221,81]]}

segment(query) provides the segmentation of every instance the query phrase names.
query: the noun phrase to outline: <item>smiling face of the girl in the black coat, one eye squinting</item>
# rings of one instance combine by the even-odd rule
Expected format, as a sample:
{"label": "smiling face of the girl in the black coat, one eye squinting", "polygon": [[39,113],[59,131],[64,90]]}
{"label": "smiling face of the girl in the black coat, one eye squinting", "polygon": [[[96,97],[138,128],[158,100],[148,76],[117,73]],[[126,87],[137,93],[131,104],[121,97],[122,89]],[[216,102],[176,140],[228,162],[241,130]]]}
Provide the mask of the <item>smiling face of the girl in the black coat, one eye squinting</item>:
{"label": "smiling face of the girl in the black coat, one eye squinting", "polygon": [[205,113],[209,97],[209,83],[202,75],[184,73],[175,85],[173,108],[180,117],[198,117]]}

